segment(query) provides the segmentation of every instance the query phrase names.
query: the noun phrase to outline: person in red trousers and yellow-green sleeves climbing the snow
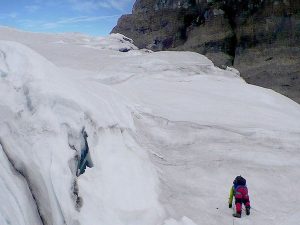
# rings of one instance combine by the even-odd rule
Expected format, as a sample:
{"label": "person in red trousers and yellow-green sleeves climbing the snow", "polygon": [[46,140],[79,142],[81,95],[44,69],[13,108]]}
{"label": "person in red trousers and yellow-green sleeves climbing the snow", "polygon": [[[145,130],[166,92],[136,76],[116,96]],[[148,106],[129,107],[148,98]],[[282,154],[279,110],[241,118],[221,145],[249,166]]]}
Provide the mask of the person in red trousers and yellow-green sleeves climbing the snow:
{"label": "person in red trousers and yellow-green sleeves climbing the snow", "polygon": [[229,208],[232,208],[233,196],[235,198],[236,213],[234,217],[241,218],[242,204],[245,205],[246,215],[250,215],[250,200],[248,195],[248,188],[246,186],[246,179],[242,176],[237,176],[233,181],[233,186],[230,189]]}

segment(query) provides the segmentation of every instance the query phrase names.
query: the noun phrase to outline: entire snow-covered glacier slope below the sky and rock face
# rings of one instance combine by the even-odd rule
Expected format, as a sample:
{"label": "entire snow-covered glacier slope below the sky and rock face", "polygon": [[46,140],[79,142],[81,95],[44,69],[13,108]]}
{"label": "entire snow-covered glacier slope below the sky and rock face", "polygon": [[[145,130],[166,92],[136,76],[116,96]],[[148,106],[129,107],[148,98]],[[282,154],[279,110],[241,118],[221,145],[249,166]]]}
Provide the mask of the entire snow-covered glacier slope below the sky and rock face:
{"label": "entire snow-covered glacier slope below the sky and rock face", "polygon": [[[0,28],[0,224],[294,225],[300,106],[189,52]],[[85,137],[94,164],[76,177]],[[228,191],[248,181],[252,211]]]}

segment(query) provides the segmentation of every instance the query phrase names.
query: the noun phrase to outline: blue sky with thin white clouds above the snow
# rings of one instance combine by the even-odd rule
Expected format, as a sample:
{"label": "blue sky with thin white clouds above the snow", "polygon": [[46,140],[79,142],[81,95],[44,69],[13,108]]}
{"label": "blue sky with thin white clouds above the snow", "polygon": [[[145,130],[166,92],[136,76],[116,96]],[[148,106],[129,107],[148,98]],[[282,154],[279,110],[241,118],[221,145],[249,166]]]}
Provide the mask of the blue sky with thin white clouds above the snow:
{"label": "blue sky with thin white clouds above the snow", "polygon": [[104,36],[135,0],[0,0],[0,25],[33,32]]}

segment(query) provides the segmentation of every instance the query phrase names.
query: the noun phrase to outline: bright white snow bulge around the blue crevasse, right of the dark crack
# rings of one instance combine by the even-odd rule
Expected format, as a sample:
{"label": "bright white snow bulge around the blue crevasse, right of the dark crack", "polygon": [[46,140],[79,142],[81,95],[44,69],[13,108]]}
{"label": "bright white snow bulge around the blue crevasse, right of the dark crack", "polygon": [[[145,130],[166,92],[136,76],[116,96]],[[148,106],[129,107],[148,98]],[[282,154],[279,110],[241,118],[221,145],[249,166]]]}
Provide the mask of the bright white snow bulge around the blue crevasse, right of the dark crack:
{"label": "bright white snow bulge around the blue crevasse, right of the dark crack", "polygon": [[[155,197],[158,181],[150,163],[141,166],[140,158],[147,158],[147,154],[138,152],[139,146],[132,138],[132,107],[107,86],[92,84],[95,88],[91,90],[91,82],[64,80],[58,68],[21,44],[0,42],[0,48],[6,52],[3,63],[9,65],[7,76],[0,83],[1,95],[6,96],[0,107],[3,115],[0,136],[6,140],[6,146],[13,149],[9,151],[9,158],[15,162],[15,167],[26,171],[24,174],[36,200],[42,223],[84,224],[91,218],[90,224],[103,220],[106,222],[102,223],[109,224],[107,221],[114,217],[116,219],[110,224],[122,224],[119,218],[122,214],[128,221],[135,221],[136,217],[140,217],[137,221],[157,220],[157,215],[162,211],[158,197]],[[82,178],[76,178],[74,164],[77,162],[74,158],[79,153],[70,147],[69,134],[70,131],[80,133],[82,127],[91,134],[90,149],[93,151],[91,154],[97,155],[95,165],[98,169],[85,173]],[[116,146],[118,151],[110,147],[114,145],[111,139],[120,143]],[[80,138],[78,141],[75,144],[81,146]],[[102,146],[105,142],[106,145]],[[82,147],[75,149],[80,150]],[[108,150],[112,152],[107,152],[105,157],[101,151]],[[112,158],[112,155],[118,157],[118,160]],[[127,180],[121,179],[118,174],[115,174],[118,179],[107,176],[116,172],[112,167],[115,167],[117,161],[124,178],[136,182],[137,187],[123,189],[120,183],[127,186]],[[140,168],[138,173],[137,167]],[[102,174],[103,170],[106,173]],[[143,177],[145,174],[148,175]],[[89,185],[89,182],[85,184],[85,179],[91,176],[100,179],[97,182],[96,179],[94,185]],[[76,183],[79,184],[77,190]],[[105,183],[110,185],[105,187]],[[111,189],[114,195],[111,195]],[[98,190],[101,195],[94,193],[94,190]],[[144,193],[149,195],[148,201],[142,198],[131,200],[133,195],[143,196]],[[123,194],[128,196],[127,199],[116,199],[116,196],[121,197]],[[74,195],[77,195],[75,201]],[[100,216],[98,219],[95,219],[96,214],[91,210],[95,204],[99,204],[92,200],[95,198],[106,206],[103,210],[105,214],[97,213]],[[130,202],[129,209],[125,202]],[[82,204],[80,210],[78,204]],[[117,213],[118,210],[121,213]],[[143,214],[138,216],[131,211],[143,211]]]}

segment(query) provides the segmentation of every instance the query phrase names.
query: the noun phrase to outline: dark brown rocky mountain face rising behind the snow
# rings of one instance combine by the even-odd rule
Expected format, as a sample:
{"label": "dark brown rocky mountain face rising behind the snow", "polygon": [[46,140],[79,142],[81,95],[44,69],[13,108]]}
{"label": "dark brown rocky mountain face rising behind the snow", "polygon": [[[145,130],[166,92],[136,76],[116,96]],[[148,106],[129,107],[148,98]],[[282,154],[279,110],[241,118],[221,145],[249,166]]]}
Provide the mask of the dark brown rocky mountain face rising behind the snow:
{"label": "dark brown rocky mountain face rising behind the snow", "polygon": [[300,103],[300,0],[137,0],[112,33],[204,54]]}

